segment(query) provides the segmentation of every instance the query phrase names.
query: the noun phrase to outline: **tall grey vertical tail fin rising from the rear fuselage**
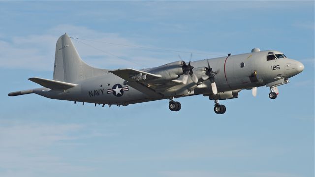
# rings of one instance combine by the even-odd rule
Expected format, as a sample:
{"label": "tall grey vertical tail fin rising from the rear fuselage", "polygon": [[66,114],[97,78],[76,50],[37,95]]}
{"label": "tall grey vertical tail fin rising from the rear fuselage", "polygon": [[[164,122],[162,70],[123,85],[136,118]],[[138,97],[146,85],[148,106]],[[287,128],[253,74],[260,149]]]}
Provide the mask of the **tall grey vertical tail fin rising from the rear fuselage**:
{"label": "tall grey vertical tail fin rising from the rear fuselage", "polygon": [[108,70],[89,66],[79,56],[68,34],[59,37],[56,44],[53,80],[77,83],[84,79],[100,76]]}

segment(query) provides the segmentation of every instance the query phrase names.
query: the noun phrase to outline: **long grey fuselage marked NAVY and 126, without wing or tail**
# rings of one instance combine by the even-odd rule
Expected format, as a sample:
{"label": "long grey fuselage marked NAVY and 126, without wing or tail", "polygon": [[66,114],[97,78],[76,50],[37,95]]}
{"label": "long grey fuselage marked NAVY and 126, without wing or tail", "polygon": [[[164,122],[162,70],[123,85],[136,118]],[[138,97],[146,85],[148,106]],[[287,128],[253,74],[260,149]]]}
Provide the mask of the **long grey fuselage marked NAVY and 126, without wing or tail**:
{"label": "long grey fuselage marked NAVY and 126, without wing or tail", "polygon": [[[192,61],[191,66],[194,68],[207,67],[208,60],[212,69],[217,72],[215,78],[218,93],[264,86],[283,78],[290,78],[304,69],[301,62],[286,57],[267,60],[267,55],[270,52],[275,55],[282,54],[281,52],[272,50],[252,52],[215,59]],[[150,72],[150,70],[153,69],[154,68],[148,68],[141,71]],[[106,72],[108,70],[104,71],[103,75],[74,83],[77,84],[77,86],[70,89],[51,90],[41,88],[33,89],[33,91],[36,94],[52,99],[110,105],[127,105],[158,99],[168,99],[170,97],[182,97],[197,94],[208,96],[213,94],[209,80],[196,85],[189,79],[189,82],[186,85],[175,85],[174,87],[162,91],[161,93],[163,94],[163,97],[151,98],[137,89],[128,86],[128,83],[124,79]],[[177,80],[181,80],[182,77],[183,75],[179,76]],[[120,93],[122,94],[118,95],[111,91],[111,89],[116,89],[113,86],[116,86],[117,84],[126,88],[125,91],[120,89]]]}

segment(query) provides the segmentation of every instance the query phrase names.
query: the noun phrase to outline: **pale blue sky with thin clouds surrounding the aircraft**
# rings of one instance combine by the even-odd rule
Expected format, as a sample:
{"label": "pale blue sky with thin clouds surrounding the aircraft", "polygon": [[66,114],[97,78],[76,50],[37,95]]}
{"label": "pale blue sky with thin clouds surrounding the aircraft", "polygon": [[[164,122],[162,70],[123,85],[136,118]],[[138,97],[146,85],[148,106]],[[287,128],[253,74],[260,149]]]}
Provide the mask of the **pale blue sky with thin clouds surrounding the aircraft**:
{"label": "pale blue sky with thin clouds surrounding the aircraft", "polygon": [[[314,26],[314,1],[0,1],[0,176],[314,177]],[[180,112],[168,100],[95,108],[8,97],[38,87],[27,78],[52,78],[64,32],[193,60],[275,49],[305,70],[275,100],[261,87],[221,101],[224,115],[203,96],[178,99]],[[190,57],[84,41],[118,59],[73,42],[108,69]]]}

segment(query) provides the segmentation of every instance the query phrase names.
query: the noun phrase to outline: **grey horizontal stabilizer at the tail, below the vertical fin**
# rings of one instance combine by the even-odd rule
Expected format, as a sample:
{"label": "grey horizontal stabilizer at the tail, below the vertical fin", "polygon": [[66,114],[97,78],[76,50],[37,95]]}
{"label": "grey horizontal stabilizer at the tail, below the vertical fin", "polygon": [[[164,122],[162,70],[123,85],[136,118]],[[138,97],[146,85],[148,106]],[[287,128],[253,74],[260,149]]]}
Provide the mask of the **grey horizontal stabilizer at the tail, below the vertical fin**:
{"label": "grey horizontal stabilizer at the tail, below the vertical fin", "polygon": [[30,78],[29,80],[49,89],[70,89],[76,86],[76,84],[55,81],[55,80],[50,80],[50,79],[43,79],[43,78]]}

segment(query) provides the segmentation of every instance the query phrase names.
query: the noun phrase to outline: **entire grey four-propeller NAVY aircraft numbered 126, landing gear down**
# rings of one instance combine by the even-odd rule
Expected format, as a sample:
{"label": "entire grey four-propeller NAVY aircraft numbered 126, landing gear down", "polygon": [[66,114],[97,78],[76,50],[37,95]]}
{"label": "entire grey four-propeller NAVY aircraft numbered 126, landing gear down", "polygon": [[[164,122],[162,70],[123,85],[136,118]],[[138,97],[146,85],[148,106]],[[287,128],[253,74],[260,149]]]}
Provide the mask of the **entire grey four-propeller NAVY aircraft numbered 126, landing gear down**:
{"label": "entire grey four-propeller NAVY aircraft numbered 126, landing gear down", "polygon": [[57,41],[53,79],[29,78],[43,88],[10,92],[9,96],[35,93],[47,98],[104,105],[123,105],[169,99],[169,109],[179,111],[175,98],[203,94],[214,100],[214,111],[224,114],[219,100],[237,98],[242,89],[269,87],[275,99],[278,86],[302,72],[304,65],[275,50],[228,55],[215,59],[179,60],[147,69],[99,69],[79,56],[68,34]]}

